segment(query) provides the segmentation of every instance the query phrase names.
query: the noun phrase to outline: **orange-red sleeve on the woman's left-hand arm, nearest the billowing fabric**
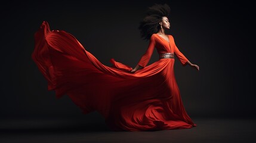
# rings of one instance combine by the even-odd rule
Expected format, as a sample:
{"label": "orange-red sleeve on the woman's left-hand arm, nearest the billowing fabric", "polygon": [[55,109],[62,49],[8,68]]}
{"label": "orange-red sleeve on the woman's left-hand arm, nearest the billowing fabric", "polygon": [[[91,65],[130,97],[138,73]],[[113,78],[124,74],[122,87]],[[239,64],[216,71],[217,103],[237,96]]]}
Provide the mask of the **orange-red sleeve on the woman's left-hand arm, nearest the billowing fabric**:
{"label": "orange-red sleeve on the woman's left-hand arm, nearest the billowing fabric", "polygon": [[155,48],[155,37],[152,35],[149,41],[149,46],[147,48],[147,51],[145,52],[145,54],[140,58],[140,61],[138,62],[138,66],[141,67],[146,67],[147,63],[149,63],[149,60],[151,58],[151,55],[154,51]]}

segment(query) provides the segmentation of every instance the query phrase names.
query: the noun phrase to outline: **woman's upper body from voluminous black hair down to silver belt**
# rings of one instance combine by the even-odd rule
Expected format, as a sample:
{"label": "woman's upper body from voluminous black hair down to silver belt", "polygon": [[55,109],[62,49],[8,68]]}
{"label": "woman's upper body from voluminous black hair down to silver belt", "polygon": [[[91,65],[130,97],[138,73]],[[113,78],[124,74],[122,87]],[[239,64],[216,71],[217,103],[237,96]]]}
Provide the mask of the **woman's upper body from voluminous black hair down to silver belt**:
{"label": "woman's upper body from voluminous black hair down to silver belt", "polygon": [[[189,64],[190,66],[195,67],[197,70],[199,70],[199,66],[190,63],[190,61],[187,60],[187,58],[184,57],[184,55],[178,50],[177,46],[174,45],[174,49],[172,49],[172,46],[170,44],[175,44],[174,38],[171,35],[165,34],[165,29],[169,29],[171,26],[167,18],[168,15],[169,7],[166,4],[154,5],[153,7],[149,8],[149,11],[147,12],[147,17],[145,17],[144,20],[140,23],[139,28],[141,30],[141,36],[144,39],[150,38],[150,45],[146,53],[143,55],[143,57],[141,57],[140,62],[134,69],[132,69],[131,73],[134,73],[139,68],[143,68],[147,65],[153,53],[153,49],[156,46],[156,42],[159,42],[159,46],[156,48],[158,50],[160,58],[174,58],[173,54],[175,52],[183,65]],[[158,38],[164,41],[159,41]],[[166,42],[168,43],[168,45],[164,45]],[[160,46],[164,47],[161,48]]]}

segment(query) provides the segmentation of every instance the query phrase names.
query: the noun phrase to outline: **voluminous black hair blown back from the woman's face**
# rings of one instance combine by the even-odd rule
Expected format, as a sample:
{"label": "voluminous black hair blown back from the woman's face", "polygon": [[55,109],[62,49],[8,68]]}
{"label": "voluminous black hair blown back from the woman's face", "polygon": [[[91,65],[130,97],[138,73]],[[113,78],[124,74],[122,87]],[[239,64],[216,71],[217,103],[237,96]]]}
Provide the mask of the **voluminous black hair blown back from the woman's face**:
{"label": "voluminous black hair blown back from the woman's face", "polygon": [[162,17],[168,17],[170,8],[167,4],[155,4],[146,11],[146,17],[140,22],[138,29],[144,40],[149,40],[153,33],[158,33]]}

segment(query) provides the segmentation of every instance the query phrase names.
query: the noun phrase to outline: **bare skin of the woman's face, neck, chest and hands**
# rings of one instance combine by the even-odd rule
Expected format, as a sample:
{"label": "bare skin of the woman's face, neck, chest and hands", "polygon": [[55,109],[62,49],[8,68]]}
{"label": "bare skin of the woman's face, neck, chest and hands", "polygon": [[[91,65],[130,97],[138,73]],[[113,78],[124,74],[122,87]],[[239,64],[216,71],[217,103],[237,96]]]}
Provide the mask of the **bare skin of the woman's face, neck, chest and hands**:
{"label": "bare skin of the woman's face, neck, chest and hands", "polygon": [[[161,25],[161,29],[159,29],[158,31],[158,35],[161,36],[162,38],[164,38],[166,41],[169,42],[169,37],[168,35],[165,34],[165,29],[170,29],[170,23],[167,17],[162,17],[162,20],[159,22],[159,24]],[[192,64],[190,61],[187,61],[187,64],[189,64],[189,66],[193,67],[194,69],[199,71],[199,66],[196,64]],[[131,73],[135,73],[137,70],[142,69],[143,67],[137,65],[134,67],[134,69],[132,69],[130,72]]]}

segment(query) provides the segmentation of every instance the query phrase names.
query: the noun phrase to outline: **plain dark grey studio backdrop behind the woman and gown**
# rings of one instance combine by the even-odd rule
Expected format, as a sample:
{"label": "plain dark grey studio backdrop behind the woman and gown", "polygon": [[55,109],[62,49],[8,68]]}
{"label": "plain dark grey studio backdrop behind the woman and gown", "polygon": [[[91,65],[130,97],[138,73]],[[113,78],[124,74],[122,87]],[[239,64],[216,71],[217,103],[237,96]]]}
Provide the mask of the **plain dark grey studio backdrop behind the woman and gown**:
{"label": "plain dark grey studio backdrop behind the woman and gown", "polygon": [[[175,75],[191,117],[255,117],[255,45],[252,2],[247,1],[41,1],[1,4],[0,117],[85,117],[67,97],[47,91],[32,61],[33,34],[42,21],[75,36],[101,63],[110,58],[134,67],[147,48],[138,23],[147,7],[169,4],[176,45],[200,66],[177,60]],[[153,54],[150,63],[158,60]],[[101,119],[97,113],[88,120]]]}

